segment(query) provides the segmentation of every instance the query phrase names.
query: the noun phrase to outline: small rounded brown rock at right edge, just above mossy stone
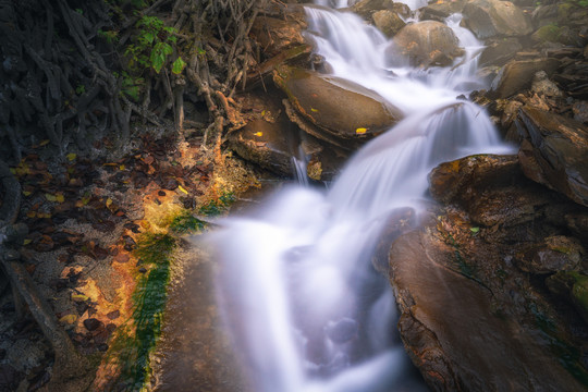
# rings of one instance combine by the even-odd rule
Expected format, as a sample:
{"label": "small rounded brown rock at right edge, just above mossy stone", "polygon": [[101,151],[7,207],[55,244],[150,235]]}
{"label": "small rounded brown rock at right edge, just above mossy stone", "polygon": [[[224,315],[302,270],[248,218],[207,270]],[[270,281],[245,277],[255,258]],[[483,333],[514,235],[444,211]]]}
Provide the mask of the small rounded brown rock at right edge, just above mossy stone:
{"label": "small rounded brown rock at right edge, just above mossy stone", "polygon": [[516,265],[523,271],[530,273],[573,271],[580,267],[585,254],[577,240],[554,235],[547,237],[542,244],[535,245],[517,255]]}

